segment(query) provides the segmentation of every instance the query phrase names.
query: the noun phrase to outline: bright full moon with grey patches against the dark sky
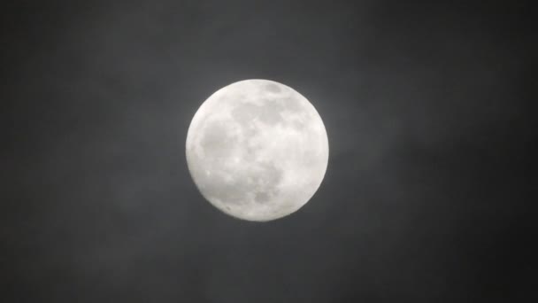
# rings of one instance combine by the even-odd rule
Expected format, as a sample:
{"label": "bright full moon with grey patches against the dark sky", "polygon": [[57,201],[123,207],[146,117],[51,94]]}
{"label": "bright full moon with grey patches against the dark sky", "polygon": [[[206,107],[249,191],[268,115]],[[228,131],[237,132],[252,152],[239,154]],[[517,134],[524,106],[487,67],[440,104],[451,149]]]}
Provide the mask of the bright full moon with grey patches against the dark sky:
{"label": "bright full moon with grey patches against the dark sky", "polygon": [[219,89],[190,123],[188,171],[202,196],[247,221],[296,212],[327,171],[327,131],[313,105],[279,82],[251,79]]}

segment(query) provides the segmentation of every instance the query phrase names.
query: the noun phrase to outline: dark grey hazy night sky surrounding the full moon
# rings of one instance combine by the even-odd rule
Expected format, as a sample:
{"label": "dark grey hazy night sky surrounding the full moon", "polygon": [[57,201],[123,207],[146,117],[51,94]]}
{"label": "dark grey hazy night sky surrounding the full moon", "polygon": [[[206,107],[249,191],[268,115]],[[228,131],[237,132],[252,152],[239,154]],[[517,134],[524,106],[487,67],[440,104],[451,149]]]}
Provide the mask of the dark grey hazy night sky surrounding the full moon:
{"label": "dark grey hazy night sky surrounding the full moon", "polygon": [[[0,301],[535,298],[522,1],[1,12]],[[184,154],[198,106],[249,78],[297,89],[329,135],[319,191],[267,223],[205,202]]]}

